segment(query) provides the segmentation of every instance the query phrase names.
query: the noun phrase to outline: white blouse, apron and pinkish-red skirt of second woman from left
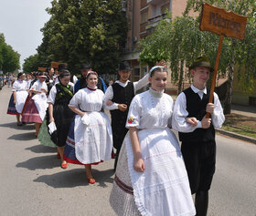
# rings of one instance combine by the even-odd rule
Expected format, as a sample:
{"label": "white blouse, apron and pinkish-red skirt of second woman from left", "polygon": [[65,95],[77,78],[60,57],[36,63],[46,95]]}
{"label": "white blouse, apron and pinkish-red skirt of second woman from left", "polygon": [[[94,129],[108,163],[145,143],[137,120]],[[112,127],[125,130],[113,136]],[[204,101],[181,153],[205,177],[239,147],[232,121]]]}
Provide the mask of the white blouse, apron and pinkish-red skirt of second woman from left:
{"label": "white blouse, apron and pinkish-red skirt of second woman from left", "polygon": [[[41,88],[48,90],[46,82],[37,80],[30,90],[42,91]],[[47,96],[44,92],[36,93],[32,98],[28,98],[22,113],[23,122],[42,123],[48,108]]]}

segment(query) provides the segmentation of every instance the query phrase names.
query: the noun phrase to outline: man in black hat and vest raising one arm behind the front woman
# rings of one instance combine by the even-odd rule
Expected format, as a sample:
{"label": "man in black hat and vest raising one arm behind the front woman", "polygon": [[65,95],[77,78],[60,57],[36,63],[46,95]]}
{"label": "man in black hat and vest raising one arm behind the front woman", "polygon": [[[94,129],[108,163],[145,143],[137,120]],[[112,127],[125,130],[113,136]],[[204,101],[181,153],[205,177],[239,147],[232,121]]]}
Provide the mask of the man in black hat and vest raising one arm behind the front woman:
{"label": "man in black hat and vest raising one arm behind the front woman", "polygon": [[123,139],[128,131],[125,128],[125,123],[130,104],[135,92],[148,84],[148,74],[137,82],[130,82],[129,77],[132,69],[126,61],[119,64],[117,71],[119,80],[107,88],[104,96],[106,106],[108,101],[112,100],[112,105],[107,107],[111,109],[113,147],[116,149],[114,170],[116,169]]}

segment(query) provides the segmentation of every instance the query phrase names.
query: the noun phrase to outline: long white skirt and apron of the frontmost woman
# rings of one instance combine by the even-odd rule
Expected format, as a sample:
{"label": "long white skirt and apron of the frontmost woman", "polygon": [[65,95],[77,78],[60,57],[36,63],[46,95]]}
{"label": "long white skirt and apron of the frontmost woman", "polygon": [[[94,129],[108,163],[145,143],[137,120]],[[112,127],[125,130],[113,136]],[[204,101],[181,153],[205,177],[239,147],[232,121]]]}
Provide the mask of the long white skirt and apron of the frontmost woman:
{"label": "long white skirt and apron of the frontmost woman", "polygon": [[[137,212],[159,216],[195,215],[187,170],[174,133],[170,129],[144,129],[138,131],[138,138],[145,170],[133,169],[133,149],[128,133],[121,151],[127,152],[127,157],[120,155],[112,188],[112,208],[118,215],[137,215]],[[125,163],[128,170],[123,170]],[[129,172],[130,178],[123,172]],[[120,197],[123,199],[116,199]],[[134,202],[137,210],[131,211]],[[123,212],[117,209],[122,205],[125,206]]]}

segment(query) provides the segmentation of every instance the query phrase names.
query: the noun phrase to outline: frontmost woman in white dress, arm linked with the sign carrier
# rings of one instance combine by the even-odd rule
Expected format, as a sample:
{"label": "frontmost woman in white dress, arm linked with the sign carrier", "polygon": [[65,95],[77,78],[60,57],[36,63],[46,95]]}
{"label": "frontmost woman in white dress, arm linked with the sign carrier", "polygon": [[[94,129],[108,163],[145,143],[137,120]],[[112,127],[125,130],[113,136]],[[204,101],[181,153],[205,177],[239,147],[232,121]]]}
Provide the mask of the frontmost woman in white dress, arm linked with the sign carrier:
{"label": "frontmost woman in white dress, arm linked with the sign carrier", "polygon": [[129,129],[110,202],[118,215],[195,215],[187,171],[171,126],[173,99],[164,93],[165,67],[150,70],[148,91],[133,98]]}

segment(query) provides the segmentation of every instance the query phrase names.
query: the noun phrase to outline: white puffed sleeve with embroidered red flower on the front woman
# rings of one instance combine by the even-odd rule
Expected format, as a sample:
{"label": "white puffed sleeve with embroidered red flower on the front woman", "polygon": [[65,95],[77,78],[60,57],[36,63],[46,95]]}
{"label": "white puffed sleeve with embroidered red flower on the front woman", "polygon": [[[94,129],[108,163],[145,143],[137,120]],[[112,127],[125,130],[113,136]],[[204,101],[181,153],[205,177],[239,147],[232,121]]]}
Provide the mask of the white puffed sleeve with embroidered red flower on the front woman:
{"label": "white puffed sleeve with embroidered red flower on the front woman", "polygon": [[142,106],[140,103],[139,96],[135,96],[132,100],[132,103],[129,108],[127,120],[126,120],[126,128],[129,129],[131,127],[138,127],[140,125]]}

